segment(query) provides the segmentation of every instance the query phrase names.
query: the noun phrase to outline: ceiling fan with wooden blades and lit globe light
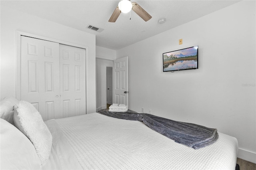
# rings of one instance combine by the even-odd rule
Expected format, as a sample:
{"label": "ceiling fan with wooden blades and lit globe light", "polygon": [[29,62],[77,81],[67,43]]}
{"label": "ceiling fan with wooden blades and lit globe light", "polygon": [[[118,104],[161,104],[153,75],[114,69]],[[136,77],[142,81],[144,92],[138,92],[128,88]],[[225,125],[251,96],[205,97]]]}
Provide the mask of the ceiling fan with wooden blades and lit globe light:
{"label": "ceiling fan with wooden blades and lit globe light", "polygon": [[130,0],[120,0],[108,22],[116,22],[121,12],[127,13],[130,12],[130,10],[133,10],[144,21],[148,21],[152,18],[152,16],[150,16],[150,14],[148,14],[148,12],[141,8],[136,2],[130,2]]}

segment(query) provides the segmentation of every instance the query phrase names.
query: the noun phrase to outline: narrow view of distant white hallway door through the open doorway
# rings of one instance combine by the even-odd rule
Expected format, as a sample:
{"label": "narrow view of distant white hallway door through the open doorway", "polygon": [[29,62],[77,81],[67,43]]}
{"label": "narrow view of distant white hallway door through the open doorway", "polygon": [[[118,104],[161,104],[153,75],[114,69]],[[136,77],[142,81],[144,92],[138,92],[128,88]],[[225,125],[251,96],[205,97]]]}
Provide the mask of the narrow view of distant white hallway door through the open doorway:
{"label": "narrow view of distant white hallway door through the open doorway", "polygon": [[107,67],[107,104],[113,104],[113,68]]}

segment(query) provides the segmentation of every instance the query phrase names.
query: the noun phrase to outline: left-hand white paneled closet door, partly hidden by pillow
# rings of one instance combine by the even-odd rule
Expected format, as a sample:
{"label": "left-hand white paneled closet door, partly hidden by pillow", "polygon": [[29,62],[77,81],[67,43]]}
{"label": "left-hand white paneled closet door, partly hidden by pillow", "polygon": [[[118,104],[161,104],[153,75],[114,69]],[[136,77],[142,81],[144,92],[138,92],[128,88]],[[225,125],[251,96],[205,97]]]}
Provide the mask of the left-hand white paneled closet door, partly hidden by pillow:
{"label": "left-hand white paneled closet door, partly hidden by pillow", "polygon": [[44,120],[59,113],[59,44],[21,36],[21,99],[36,107]]}

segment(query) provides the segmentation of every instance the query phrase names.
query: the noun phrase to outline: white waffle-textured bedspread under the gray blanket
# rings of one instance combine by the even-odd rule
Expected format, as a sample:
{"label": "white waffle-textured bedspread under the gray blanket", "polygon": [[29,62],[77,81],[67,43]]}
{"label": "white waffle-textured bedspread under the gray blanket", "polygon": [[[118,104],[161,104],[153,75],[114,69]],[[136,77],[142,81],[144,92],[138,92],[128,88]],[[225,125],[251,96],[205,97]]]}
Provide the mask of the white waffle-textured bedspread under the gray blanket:
{"label": "white waffle-textured bedspread under the gray blanket", "polygon": [[214,144],[195,150],[142,122],[99,113],[50,120],[46,124],[61,129],[83,169],[234,170],[236,166],[238,142],[220,132]]}

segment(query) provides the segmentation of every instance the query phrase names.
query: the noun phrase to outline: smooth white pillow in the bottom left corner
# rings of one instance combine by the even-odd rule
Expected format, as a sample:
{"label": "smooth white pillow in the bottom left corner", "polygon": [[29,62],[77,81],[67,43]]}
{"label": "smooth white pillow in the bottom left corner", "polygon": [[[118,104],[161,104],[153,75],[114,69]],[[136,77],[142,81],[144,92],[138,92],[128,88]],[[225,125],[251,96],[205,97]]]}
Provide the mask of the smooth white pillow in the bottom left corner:
{"label": "smooth white pillow in the bottom left corner", "polygon": [[30,140],[4,119],[0,126],[0,169],[40,169],[41,162]]}

